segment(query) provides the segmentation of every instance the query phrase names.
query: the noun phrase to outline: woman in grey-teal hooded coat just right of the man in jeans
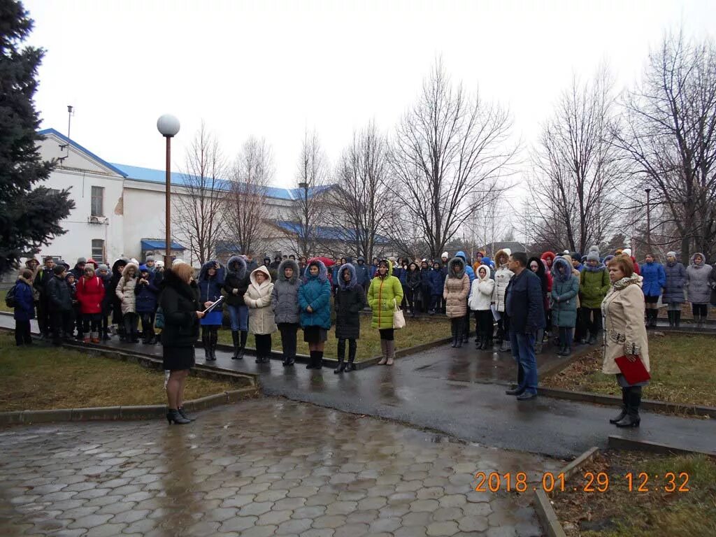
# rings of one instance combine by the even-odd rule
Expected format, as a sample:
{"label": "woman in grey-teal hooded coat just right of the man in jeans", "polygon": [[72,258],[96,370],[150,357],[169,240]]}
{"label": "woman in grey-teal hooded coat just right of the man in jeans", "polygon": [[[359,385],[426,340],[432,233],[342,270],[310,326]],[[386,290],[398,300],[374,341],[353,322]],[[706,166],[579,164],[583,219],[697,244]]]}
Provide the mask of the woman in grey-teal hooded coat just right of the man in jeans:
{"label": "woman in grey-teal hooded coat just right of the man in jeans", "polygon": [[557,354],[569,356],[577,322],[579,278],[572,274],[570,263],[558,257],[552,263],[552,324],[559,329],[560,349]]}

